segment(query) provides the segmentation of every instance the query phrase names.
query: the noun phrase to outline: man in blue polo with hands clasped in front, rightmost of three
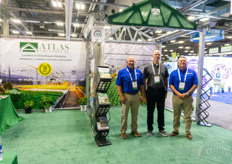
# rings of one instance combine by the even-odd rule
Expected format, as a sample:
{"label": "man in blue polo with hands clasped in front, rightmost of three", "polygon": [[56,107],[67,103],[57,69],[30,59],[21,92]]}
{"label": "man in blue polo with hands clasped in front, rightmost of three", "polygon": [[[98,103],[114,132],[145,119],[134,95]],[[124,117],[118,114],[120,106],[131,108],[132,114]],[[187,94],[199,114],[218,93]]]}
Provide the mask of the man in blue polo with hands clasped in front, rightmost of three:
{"label": "man in blue polo with hands clasped in front, rightmost of three", "polygon": [[190,127],[192,124],[191,113],[193,97],[192,93],[198,85],[197,74],[194,70],[187,68],[187,59],[181,56],[178,60],[179,68],[174,70],[169,78],[169,85],[174,95],[172,98],[172,106],[174,111],[173,129],[170,136],[179,134],[180,115],[182,108],[184,109],[185,132],[188,139],[192,139]]}

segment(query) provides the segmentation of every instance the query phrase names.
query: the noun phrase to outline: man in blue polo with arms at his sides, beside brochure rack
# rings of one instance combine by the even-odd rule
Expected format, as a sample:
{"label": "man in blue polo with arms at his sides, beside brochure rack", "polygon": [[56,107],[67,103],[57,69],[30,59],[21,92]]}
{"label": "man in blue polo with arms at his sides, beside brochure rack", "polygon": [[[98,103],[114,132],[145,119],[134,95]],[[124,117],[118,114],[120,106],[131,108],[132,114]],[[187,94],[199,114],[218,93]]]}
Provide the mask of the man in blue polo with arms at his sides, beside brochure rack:
{"label": "man in blue polo with arms at his sides, beside brochure rack", "polygon": [[[139,102],[144,100],[144,81],[143,74],[139,69],[134,67],[134,57],[128,57],[126,68],[118,72],[116,81],[118,93],[122,103],[121,117],[121,138],[126,139],[127,117],[131,107],[131,134],[135,137],[140,137],[141,134],[137,131],[137,116]],[[142,96],[140,97],[139,91]]]}

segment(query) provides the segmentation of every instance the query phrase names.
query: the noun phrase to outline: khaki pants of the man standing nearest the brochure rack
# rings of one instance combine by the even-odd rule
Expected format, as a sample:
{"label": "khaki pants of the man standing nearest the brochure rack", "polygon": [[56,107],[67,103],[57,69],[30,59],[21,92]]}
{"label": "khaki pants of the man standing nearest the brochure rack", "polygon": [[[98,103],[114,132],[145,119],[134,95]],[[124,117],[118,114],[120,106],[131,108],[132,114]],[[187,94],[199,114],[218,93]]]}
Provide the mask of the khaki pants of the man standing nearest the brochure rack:
{"label": "khaki pants of the man standing nearest the brochure rack", "polygon": [[127,117],[131,107],[131,132],[137,131],[137,116],[139,109],[139,93],[135,95],[123,94],[125,97],[125,104],[122,104],[122,117],[121,117],[121,131],[127,130]]}

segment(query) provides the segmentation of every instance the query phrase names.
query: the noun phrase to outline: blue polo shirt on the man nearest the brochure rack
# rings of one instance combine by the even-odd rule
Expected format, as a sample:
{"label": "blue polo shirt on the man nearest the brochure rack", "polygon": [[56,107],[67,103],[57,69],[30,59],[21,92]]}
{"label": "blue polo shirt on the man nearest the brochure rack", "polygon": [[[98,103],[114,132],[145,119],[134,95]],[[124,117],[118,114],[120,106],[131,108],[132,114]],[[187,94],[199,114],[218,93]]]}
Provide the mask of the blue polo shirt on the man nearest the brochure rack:
{"label": "blue polo shirt on the man nearest the brochure rack", "polygon": [[[128,66],[126,68],[130,72],[133,81],[135,81],[135,69],[136,68],[134,68],[132,71],[131,71],[131,69]],[[137,86],[138,87],[137,87],[136,90],[134,90],[133,87],[132,87],[132,81],[131,81],[130,75],[129,75],[129,73],[128,73],[128,71],[127,71],[126,68],[123,68],[123,69],[121,69],[118,72],[118,77],[117,77],[117,80],[116,80],[116,85],[122,86],[122,91],[123,92],[137,93],[137,92],[139,92],[139,86],[144,84],[143,74],[142,74],[142,72],[139,69],[136,69]]]}

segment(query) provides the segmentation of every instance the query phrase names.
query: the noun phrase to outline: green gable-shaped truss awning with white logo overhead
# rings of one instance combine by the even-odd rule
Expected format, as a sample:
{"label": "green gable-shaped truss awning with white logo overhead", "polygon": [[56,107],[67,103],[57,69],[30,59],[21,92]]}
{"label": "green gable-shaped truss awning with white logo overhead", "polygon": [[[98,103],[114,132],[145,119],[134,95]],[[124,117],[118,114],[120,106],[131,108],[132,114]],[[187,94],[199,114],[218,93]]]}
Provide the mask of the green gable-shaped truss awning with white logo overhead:
{"label": "green gable-shaped truss awning with white logo overhead", "polygon": [[196,23],[189,21],[179,10],[164,0],[144,0],[108,17],[114,25],[151,26],[196,30]]}

